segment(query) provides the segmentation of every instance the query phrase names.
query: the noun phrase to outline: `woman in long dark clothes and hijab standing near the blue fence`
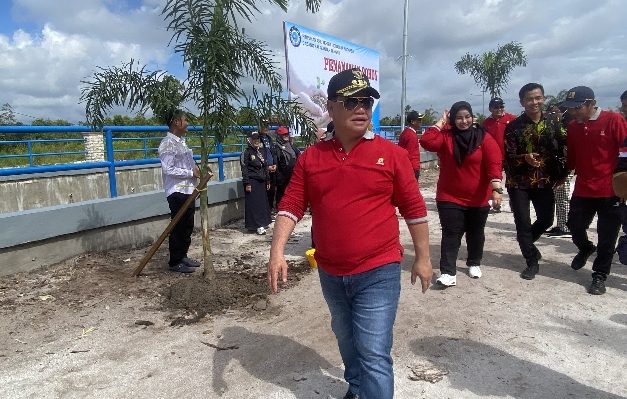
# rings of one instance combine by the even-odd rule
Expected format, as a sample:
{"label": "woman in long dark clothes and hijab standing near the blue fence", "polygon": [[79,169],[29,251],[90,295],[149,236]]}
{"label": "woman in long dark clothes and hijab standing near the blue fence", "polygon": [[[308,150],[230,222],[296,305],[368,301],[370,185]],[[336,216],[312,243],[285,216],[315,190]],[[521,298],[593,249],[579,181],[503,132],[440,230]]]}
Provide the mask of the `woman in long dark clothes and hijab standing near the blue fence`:
{"label": "woman in long dark clothes and hijab standing near the blue fence", "polygon": [[270,175],[259,132],[248,136],[248,148],[242,152],[240,166],[245,191],[245,226],[259,235],[266,234],[272,222],[266,193],[270,187]]}

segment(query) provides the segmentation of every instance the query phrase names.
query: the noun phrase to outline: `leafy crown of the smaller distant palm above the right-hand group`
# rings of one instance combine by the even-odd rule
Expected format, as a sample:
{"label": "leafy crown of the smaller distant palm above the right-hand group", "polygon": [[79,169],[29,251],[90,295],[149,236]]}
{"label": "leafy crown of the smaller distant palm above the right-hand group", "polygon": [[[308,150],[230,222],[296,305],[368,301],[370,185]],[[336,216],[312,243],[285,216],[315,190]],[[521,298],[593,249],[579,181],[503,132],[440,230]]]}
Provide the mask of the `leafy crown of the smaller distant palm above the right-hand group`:
{"label": "leafy crown of the smaller distant palm above the right-hand group", "polygon": [[510,73],[518,66],[527,66],[527,56],[520,43],[510,42],[496,51],[466,53],[455,63],[455,70],[459,74],[469,73],[477,86],[491,97],[498,97],[507,87]]}

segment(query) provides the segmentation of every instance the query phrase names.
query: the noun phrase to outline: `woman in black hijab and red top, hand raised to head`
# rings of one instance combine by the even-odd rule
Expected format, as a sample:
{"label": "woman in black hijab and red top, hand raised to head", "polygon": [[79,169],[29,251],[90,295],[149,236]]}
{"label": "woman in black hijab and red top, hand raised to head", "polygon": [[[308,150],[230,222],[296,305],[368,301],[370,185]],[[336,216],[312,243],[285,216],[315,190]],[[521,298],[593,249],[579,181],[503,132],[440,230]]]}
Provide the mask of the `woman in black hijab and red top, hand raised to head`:
{"label": "woman in black hijab and red top, hand raised to head", "polygon": [[441,275],[436,282],[457,284],[457,255],[466,234],[468,274],[481,277],[485,223],[492,206],[501,204],[501,150],[491,135],[474,123],[470,104],[465,101],[444,111],[433,127],[422,135],[420,144],[438,154],[440,177],[436,203],[442,226]]}

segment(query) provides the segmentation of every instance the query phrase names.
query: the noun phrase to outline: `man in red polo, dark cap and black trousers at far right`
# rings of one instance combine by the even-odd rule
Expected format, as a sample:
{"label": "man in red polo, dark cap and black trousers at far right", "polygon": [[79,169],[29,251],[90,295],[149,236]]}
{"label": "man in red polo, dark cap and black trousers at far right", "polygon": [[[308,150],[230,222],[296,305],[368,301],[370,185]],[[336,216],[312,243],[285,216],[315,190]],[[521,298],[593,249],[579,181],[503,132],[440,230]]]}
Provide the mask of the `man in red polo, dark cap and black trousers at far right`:
{"label": "man in red polo, dark cap and black trousers at far right", "polygon": [[[577,175],[568,227],[579,252],[571,267],[581,269],[596,251],[588,292],[602,295],[620,228],[620,201],[612,188],[612,174],[616,154],[627,138],[627,122],[618,113],[601,111],[596,106],[594,92],[586,86],[570,89],[562,105],[573,118],[568,125],[568,167]],[[595,215],[598,217],[597,246],[588,239],[587,233]]]}

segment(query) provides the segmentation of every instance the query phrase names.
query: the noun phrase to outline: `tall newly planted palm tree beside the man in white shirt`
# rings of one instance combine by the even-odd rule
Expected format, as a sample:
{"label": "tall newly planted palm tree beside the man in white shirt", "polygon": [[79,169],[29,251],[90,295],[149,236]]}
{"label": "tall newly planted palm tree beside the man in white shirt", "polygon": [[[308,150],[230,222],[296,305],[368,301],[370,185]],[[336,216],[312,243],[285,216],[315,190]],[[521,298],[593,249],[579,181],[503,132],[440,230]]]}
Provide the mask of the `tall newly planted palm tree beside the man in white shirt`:
{"label": "tall newly planted palm tree beside the man in white shirt", "polygon": [[[266,0],[287,11],[288,0]],[[305,0],[308,11],[318,11],[322,0]],[[189,100],[199,110],[201,133],[201,173],[208,171],[209,133],[216,142],[235,133],[237,110],[234,106],[244,98],[240,81],[250,77],[267,86],[271,93],[281,93],[281,76],[271,60],[265,43],[246,35],[238,19],[252,22],[260,10],[259,0],[167,0],[162,15],[167,29],[172,32],[170,44],[180,54],[187,67],[186,90],[181,100]],[[150,72],[146,67],[134,68],[133,61],[123,68],[100,68],[91,81],[86,81],[81,101],[86,102],[87,121],[94,127],[102,126],[105,111],[113,105],[147,107],[151,100],[161,98],[154,94],[157,82],[165,73]],[[163,92],[162,92],[163,93]],[[274,95],[270,98],[279,98]],[[287,121],[313,132],[313,121],[296,104],[269,101],[271,115],[281,107],[289,111]],[[207,194],[201,193],[201,228],[203,237],[204,276],[213,279],[215,270],[209,240]]]}

